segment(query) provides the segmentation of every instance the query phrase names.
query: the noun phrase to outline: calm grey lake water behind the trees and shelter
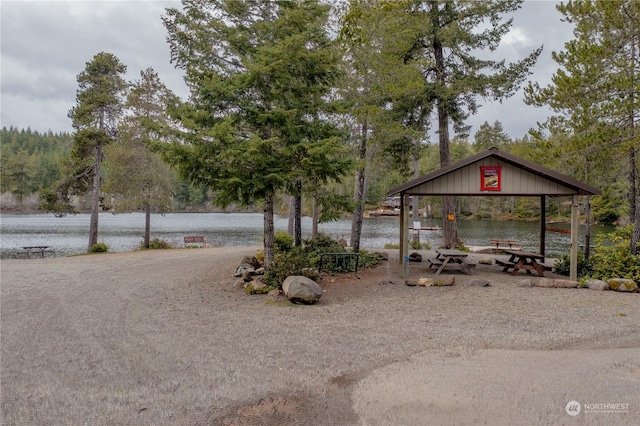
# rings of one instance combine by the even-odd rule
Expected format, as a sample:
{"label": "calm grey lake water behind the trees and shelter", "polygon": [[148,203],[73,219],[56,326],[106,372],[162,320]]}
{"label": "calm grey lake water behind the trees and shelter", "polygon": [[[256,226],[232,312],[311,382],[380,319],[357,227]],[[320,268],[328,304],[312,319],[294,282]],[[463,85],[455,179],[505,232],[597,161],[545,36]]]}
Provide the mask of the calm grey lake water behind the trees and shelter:
{"label": "calm grey lake water behind the trees and shelter", "polygon": [[[51,214],[0,214],[0,255],[10,257],[22,251],[23,246],[47,245],[56,256],[70,256],[86,252],[89,238],[88,214],[68,215],[62,218]],[[276,217],[276,231],[287,229],[286,217]],[[440,220],[423,220],[423,226],[441,226]],[[554,225],[555,227],[563,226]],[[399,232],[397,218],[365,218],[360,247],[384,248],[397,244]],[[568,227],[568,225],[565,225]],[[262,213],[171,213],[154,214],[151,218],[151,238],[159,238],[174,247],[184,246],[185,235],[204,235],[213,247],[262,245]],[[320,232],[349,241],[351,220],[319,225]],[[611,227],[594,227],[594,234],[609,232]],[[525,250],[539,251],[539,224],[503,221],[458,221],[458,232],[468,245],[487,246],[492,238],[514,239]],[[311,218],[302,219],[303,238],[311,235]],[[133,251],[140,247],[144,235],[144,214],[113,215],[101,213],[99,242],[110,251]],[[438,247],[442,231],[421,231],[421,241]],[[549,256],[569,251],[569,235],[547,232],[546,254]]]}

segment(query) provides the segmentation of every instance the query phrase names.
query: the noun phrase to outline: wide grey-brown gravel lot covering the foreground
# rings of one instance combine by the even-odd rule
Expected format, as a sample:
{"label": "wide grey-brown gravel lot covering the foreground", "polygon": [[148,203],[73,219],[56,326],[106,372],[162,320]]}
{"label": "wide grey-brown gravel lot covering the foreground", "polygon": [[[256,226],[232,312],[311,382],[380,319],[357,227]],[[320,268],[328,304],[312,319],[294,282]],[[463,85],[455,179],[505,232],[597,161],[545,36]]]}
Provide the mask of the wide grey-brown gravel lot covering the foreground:
{"label": "wide grey-brown gravel lot covering the foreground", "polygon": [[2,260],[2,424],[640,424],[638,295],[408,287],[389,251],[292,306],[233,288],[256,251]]}

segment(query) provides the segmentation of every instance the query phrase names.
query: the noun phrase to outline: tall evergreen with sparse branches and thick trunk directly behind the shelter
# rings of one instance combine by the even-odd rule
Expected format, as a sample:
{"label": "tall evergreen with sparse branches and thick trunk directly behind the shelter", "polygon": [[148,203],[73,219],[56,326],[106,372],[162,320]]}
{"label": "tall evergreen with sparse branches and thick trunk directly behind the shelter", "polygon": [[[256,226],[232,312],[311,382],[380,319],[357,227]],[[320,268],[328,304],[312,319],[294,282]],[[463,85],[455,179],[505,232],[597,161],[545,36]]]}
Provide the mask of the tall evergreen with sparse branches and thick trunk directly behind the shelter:
{"label": "tall evergreen with sparse branches and thick trunk directly behind the shelter", "polygon": [[[416,0],[411,12],[421,19],[415,43],[407,56],[423,58],[424,76],[438,116],[440,166],[450,164],[449,125],[463,125],[479,108],[477,98],[500,100],[515,93],[542,48],[523,60],[505,65],[504,61],[481,59],[474,54],[495,50],[509,31],[512,20],[504,14],[514,12],[522,0],[453,1]],[[444,246],[458,244],[454,202],[444,197]]]}

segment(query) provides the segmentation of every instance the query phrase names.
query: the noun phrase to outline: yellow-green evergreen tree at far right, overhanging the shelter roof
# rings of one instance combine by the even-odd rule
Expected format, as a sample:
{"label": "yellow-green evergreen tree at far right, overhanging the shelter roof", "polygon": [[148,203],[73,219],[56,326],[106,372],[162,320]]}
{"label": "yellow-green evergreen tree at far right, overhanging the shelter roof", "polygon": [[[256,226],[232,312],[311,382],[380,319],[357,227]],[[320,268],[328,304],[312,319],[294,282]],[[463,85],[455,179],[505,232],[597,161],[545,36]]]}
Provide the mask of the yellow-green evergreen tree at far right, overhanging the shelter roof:
{"label": "yellow-green evergreen tree at far right, overhanging the shelter roof", "polygon": [[[630,250],[640,242],[638,116],[640,115],[640,5],[636,1],[579,0],[558,10],[575,25],[574,39],[554,52],[560,69],[552,83],[530,83],[527,102],[550,106],[555,115],[544,124],[562,144],[551,145],[565,155],[575,174],[602,185],[621,176],[612,164],[626,163],[630,217],[634,223]],[[538,135],[539,136],[539,135]],[[538,142],[549,140],[538,137]],[[553,140],[551,141],[553,142]]]}

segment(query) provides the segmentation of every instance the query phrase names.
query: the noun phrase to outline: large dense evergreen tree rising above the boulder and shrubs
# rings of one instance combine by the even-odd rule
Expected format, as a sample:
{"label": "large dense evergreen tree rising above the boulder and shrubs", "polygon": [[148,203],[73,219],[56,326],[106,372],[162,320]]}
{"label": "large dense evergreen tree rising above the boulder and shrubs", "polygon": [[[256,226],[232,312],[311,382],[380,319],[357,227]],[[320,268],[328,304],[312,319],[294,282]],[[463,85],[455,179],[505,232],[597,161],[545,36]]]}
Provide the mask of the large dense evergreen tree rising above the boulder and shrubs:
{"label": "large dense evergreen tree rising above the boulder and shrubs", "polygon": [[348,165],[323,119],[339,56],[328,6],[184,0],[164,17],[172,60],[191,99],[174,110],[184,143],[165,157],[215,202],[264,206],[265,264],[274,256],[274,197],[304,175],[338,178]]}

